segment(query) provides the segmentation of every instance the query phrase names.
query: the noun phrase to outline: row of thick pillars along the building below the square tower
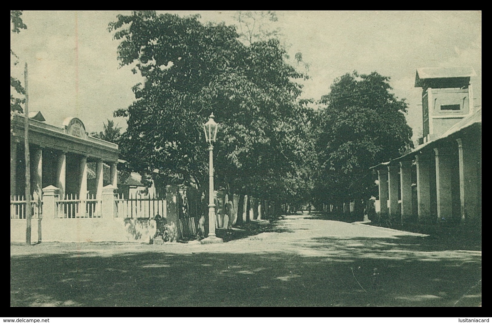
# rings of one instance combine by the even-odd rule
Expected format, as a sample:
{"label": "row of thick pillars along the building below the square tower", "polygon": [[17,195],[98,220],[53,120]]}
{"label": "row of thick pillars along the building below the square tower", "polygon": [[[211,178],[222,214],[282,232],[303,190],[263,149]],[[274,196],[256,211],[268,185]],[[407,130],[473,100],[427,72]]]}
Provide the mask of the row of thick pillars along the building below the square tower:
{"label": "row of thick pillars along the building below the square tower", "polygon": [[[431,196],[433,194],[433,163],[435,163],[435,194],[437,200],[438,219],[450,218],[453,214],[453,172],[460,174],[460,217],[466,220],[474,217],[478,212],[478,184],[477,172],[480,151],[473,142],[464,143],[457,139],[459,170],[454,167],[456,151],[449,147],[436,147],[434,158],[426,154],[417,154],[415,163],[417,168],[417,213],[419,220],[432,220]],[[398,176],[400,173],[400,176]],[[413,216],[412,197],[412,162],[401,161],[399,165],[388,165],[378,170],[379,199],[381,217],[389,216],[392,219],[401,218],[401,221]],[[398,180],[400,180],[400,185]],[[432,185],[431,185],[432,184]],[[399,193],[401,206],[399,206]],[[457,195],[457,194],[456,194]],[[389,202],[388,202],[389,201]]]}

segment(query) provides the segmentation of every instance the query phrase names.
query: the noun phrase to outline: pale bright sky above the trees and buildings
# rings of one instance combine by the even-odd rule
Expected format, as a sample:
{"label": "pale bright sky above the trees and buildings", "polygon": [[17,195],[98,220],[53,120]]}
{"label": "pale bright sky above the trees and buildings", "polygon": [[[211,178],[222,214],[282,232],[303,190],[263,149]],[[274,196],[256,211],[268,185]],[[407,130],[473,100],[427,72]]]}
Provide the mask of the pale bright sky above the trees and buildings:
{"label": "pale bright sky above the trees and buildings", "polygon": [[[161,13],[161,12],[158,12]],[[199,13],[202,22],[235,24],[234,11]],[[119,68],[118,41],[107,26],[130,11],[24,11],[28,29],[11,33],[20,63],[11,74],[23,80],[29,65],[29,110],[62,125],[79,117],[88,132],[101,131],[113,111],[134,100],[131,87],[141,78]],[[414,140],[422,131],[421,88],[414,88],[419,67],[472,66],[475,105],[482,97],[482,13],[480,11],[277,11],[277,26],[293,55],[310,64],[303,97],[319,99],[334,79],[353,70],[391,77],[399,98],[409,103],[407,121]],[[124,119],[116,119],[123,129]]]}

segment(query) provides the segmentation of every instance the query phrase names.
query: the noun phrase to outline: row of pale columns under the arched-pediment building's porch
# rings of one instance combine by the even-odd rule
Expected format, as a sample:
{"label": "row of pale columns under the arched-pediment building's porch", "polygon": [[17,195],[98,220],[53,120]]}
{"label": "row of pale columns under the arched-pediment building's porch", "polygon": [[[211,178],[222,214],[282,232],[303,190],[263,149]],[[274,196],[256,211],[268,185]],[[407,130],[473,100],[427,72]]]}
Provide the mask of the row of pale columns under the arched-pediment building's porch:
{"label": "row of pale columns under the arched-pediment building's porch", "polygon": [[[16,195],[17,192],[17,144],[12,144],[10,147],[10,192],[11,195]],[[103,187],[103,161],[96,161],[96,197],[101,199]],[[34,200],[41,199],[43,186],[43,149],[35,147],[31,149],[31,191],[33,192]],[[87,156],[82,156],[80,159],[79,169],[79,187],[78,194],[81,199],[85,199],[88,193],[87,189]],[[117,163],[110,163],[110,183],[115,188],[117,187]],[[59,152],[56,161],[55,170],[55,186],[59,188],[59,194],[63,196],[66,193],[66,152]],[[46,185],[45,185],[46,186]]]}

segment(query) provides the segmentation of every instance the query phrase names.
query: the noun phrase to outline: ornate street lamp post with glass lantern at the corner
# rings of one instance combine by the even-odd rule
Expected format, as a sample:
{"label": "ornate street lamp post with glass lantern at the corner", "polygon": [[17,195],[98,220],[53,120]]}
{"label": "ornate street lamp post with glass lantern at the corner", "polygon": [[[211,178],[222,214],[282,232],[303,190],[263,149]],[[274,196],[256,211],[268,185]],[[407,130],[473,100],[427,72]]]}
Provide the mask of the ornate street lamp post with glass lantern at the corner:
{"label": "ornate street lamp post with glass lantern at the corner", "polygon": [[217,139],[218,124],[214,121],[214,114],[210,115],[207,123],[203,125],[205,132],[205,140],[210,144],[209,147],[209,235],[201,240],[205,243],[220,243],[224,242],[222,238],[215,236],[215,203],[214,203],[214,142]]}

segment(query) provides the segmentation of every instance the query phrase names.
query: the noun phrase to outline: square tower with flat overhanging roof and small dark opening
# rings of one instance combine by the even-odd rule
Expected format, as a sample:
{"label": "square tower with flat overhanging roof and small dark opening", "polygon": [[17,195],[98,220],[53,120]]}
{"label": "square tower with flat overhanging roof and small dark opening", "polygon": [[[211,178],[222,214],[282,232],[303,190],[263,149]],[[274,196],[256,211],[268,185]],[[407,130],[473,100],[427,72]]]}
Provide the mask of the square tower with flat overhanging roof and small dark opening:
{"label": "square tower with flat overhanging roof and small dark opening", "polygon": [[419,144],[442,135],[473,113],[472,67],[418,68],[415,87],[422,88],[423,135]]}

